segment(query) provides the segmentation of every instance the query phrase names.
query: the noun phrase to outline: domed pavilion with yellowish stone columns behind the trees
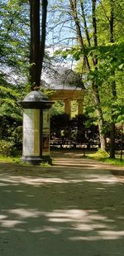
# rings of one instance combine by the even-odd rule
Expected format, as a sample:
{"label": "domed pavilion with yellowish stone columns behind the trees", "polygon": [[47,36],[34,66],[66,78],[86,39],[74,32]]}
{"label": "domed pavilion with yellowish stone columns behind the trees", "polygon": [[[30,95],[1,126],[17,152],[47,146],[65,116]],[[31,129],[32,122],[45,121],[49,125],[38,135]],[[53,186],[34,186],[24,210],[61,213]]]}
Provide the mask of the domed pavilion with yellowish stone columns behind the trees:
{"label": "domed pavilion with yellowish stone columns behind the trees", "polygon": [[49,99],[64,101],[64,113],[71,116],[71,101],[78,102],[78,114],[83,114],[84,85],[81,76],[64,66],[55,66],[42,76],[42,85],[50,90]]}

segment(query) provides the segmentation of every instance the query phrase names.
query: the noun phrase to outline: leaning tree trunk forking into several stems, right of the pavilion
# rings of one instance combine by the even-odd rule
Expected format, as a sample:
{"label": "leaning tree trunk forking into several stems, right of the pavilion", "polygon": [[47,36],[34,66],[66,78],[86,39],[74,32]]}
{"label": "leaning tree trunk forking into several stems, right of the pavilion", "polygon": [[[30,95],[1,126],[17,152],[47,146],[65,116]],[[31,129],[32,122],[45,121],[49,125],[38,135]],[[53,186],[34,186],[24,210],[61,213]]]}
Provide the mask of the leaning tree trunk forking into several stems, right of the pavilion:
{"label": "leaning tree trunk forking into several stems, right of the pavilion", "polygon": [[[88,34],[88,26],[86,22],[86,17],[84,13],[84,8],[83,8],[83,1],[80,0],[80,7],[82,11],[82,16],[83,16],[83,26],[84,26],[84,32],[85,36],[83,35],[81,31],[81,24],[79,22],[79,7],[77,4],[77,0],[69,0],[71,11],[72,11],[72,17],[74,18],[75,26],[76,26],[76,31],[77,31],[77,36],[79,39],[79,45],[81,50],[83,51],[83,61],[86,63],[88,73],[91,72],[92,69],[97,70],[97,65],[98,65],[98,58],[97,56],[92,56],[92,62],[88,60],[88,56],[84,53],[85,52],[85,42],[87,40],[88,46],[91,46],[91,42],[89,39],[89,34]],[[98,34],[97,34],[97,20],[96,20],[96,0],[92,0],[92,26],[93,26],[93,46],[98,46]],[[94,98],[94,103],[96,105],[96,114],[98,116],[98,128],[99,128],[99,137],[100,137],[100,142],[101,142],[101,148],[103,150],[106,150],[106,138],[103,133],[103,113],[100,105],[100,98],[99,98],[99,92],[98,92],[98,84],[97,80],[93,78],[91,81],[91,87],[93,91],[93,98]]]}

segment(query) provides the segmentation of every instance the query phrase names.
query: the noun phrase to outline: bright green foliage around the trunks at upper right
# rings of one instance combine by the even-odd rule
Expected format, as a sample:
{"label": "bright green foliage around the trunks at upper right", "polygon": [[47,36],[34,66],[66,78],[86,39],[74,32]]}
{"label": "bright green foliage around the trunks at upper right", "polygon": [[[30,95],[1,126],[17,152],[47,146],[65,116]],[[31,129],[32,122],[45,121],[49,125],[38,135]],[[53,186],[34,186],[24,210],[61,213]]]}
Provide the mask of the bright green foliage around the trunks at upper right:
{"label": "bright green foliage around the trunks at upper right", "polygon": [[[114,120],[115,123],[123,122],[124,90],[121,94],[120,90],[123,86],[122,80],[124,71],[124,57],[122,55],[124,52],[124,5],[121,0],[103,0],[98,2],[95,12],[98,46],[93,46],[92,3],[92,1],[82,2],[84,16],[88,25],[90,44],[88,43],[85,30],[82,30],[82,27],[85,25],[83,22],[83,12],[80,2],[76,1],[77,6],[75,7],[75,12],[77,8],[79,28],[83,38],[83,47],[81,47],[81,45],[68,46],[67,49],[64,47],[65,50],[57,51],[56,54],[60,54],[64,59],[68,56],[73,56],[74,60],[77,60],[78,63],[76,70],[82,73],[83,82],[84,85],[86,85],[86,88],[89,88],[92,81],[96,85],[98,97],[100,99],[97,108],[102,109],[104,121],[112,122]],[[68,14],[73,19],[72,12],[66,12],[67,17]],[[113,31],[111,29],[113,29]],[[79,36],[78,33],[77,36]],[[87,69],[83,56],[87,56],[90,70]],[[94,60],[97,58],[97,65],[93,65],[93,58]],[[115,83],[116,86],[116,97],[113,95],[113,83]],[[90,90],[90,98],[93,99],[92,94],[93,90]],[[84,107],[84,109],[86,111],[93,109],[91,114],[94,115],[94,110],[96,109],[95,101],[94,99],[88,100],[88,95],[86,98],[86,107]]]}

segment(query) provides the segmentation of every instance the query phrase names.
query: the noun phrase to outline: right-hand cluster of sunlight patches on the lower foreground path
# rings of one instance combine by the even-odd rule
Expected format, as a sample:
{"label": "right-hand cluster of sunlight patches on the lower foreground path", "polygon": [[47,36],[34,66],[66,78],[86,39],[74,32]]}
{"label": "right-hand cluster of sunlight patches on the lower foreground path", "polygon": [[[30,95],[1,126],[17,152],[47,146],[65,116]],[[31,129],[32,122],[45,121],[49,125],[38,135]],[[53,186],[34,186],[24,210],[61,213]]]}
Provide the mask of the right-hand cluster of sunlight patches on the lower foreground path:
{"label": "right-hand cluster of sunlight patches on the lower foreground path", "polygon": [[[68,229],[86,232],[85,236],[74,236],[73,238],[69,237],[69,239],[96,240],[124,237],[124,230],[117,230],[116,224],[113,225],[115,221],[99,215],[97,210],[55,210],[52,213],[48,213],[47,217],[50,222],[69,223]],[[91,231],[94,235],[90,235]]]}

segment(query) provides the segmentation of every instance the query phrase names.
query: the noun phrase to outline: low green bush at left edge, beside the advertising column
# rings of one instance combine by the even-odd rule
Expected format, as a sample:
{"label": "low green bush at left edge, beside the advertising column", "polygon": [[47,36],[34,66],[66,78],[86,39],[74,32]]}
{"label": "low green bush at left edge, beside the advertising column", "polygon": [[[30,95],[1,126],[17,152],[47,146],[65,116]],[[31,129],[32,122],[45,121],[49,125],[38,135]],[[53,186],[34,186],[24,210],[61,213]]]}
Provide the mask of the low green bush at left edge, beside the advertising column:
{"label": "low green bush at left edge, beside the advertising column", "polygon": [[15,156],[17,154],[13,142],[7,142],[5,140],[0,141],[0,155],[2,156]]}

